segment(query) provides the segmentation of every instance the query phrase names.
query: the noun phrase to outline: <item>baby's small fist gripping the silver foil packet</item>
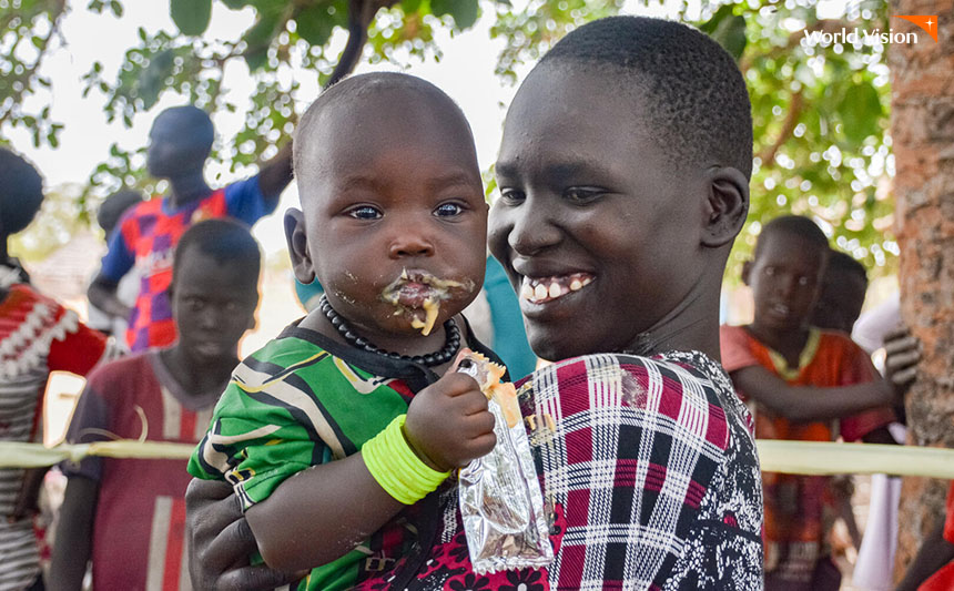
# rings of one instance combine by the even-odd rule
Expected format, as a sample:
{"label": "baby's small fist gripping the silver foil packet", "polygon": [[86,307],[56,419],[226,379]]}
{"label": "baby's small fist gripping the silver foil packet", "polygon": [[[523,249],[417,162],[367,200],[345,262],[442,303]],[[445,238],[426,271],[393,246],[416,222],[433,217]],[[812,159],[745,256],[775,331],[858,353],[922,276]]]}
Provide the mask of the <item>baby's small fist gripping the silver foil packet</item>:
{"label": "baby's small fist gripping the silver foil packet", "polygon": [[466,466],[497,444],[487,397],[470,376],[447,373],[410,401],[404,435],[420,459],[439,471]]}

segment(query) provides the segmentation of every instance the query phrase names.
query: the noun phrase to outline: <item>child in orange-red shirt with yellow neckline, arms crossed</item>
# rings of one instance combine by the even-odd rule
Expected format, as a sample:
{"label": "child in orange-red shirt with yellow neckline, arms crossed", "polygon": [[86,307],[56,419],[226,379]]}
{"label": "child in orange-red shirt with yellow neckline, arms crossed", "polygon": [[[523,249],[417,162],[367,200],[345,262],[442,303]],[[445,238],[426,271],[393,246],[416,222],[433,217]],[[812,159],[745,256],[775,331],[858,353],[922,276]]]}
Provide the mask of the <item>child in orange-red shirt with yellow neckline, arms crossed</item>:
{"label": "child in orange-red shirt with yellow neckline, arms crossed", "polygon": [[[890,438],[883,428],[894,420],[890,407],[905,388],[881,379],[846,335],[809,324],[829,256],[814,222],[783,216],[765,224],[744,265],[754,319],[722,327],[722,364],[739,394],[754,404],[757,437]],[[767,589],[838,589],[841,574],[826,547],[833,520],[829,479],[764,472],[762,480]]]}

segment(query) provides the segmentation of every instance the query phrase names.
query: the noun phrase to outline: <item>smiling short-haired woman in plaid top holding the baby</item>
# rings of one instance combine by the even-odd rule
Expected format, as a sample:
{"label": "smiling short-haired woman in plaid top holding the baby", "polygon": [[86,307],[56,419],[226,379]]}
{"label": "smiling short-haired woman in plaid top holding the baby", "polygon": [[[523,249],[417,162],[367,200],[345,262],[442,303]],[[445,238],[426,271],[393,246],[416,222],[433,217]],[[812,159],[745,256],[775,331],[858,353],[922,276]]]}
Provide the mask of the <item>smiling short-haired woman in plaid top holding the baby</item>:
{"label": "smiling short-haired woman in plaid top holding the baby", "polygon": [[[761,588],[758,459],[718,365],[751,149],[741,73],[686,26],[595,21],[534,69],[505,123],[489,245],[531,347],[564,359],[520,400],[552,419],[531,447],[556,559],[474,574],[450,502],[396,588]],[[286,582],[241,565],[255,547],[230,491],[193,485],[194,584]]]}

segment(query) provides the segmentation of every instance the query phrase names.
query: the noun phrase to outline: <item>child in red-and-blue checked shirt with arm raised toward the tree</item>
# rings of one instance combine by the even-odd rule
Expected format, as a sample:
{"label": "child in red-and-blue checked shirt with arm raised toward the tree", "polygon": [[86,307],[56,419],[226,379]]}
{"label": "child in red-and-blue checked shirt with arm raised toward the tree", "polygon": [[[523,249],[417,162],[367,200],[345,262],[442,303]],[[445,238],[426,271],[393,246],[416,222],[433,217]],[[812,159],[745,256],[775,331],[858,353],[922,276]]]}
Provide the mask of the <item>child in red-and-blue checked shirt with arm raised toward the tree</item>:
{"label": "child in red-and-blue checked shirt with arm raised toward the tree", "polygon": [[[195,106],[166,109],[155,118],[149,133],[146,166],[156,179],[169,181],[170,192],[136,205],[120,220],[102,268],[90,284],[90,303],[129,320],[126,342],[132,351],[175,340],[166,287],[182,233],[207,217],[235,217],[251,226],[275,210],[292,180],[292,151],[286,145],[255,176],[213,191],[205,183],[203,169],[214,134],[209,115]],[[116,286],[133,267],[141,276],[141,286],[130,309],[116,297]]]}

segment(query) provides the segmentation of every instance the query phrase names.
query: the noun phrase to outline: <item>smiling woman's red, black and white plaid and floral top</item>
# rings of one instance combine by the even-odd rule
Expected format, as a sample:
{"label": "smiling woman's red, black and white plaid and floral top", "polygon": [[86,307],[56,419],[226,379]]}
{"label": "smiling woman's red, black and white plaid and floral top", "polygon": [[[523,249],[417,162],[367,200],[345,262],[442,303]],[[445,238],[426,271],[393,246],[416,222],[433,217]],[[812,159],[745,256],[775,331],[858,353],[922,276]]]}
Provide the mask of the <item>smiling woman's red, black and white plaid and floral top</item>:
{"label": "smiling woman's red, black and white plaid and floral top", "polygon": [[556,560],[475,575],[458,513],[406,587],[762,588],[751,420],[718,364],[699,353],[590,355],[528,379],[521,406],[537,417],[530,444]]}

